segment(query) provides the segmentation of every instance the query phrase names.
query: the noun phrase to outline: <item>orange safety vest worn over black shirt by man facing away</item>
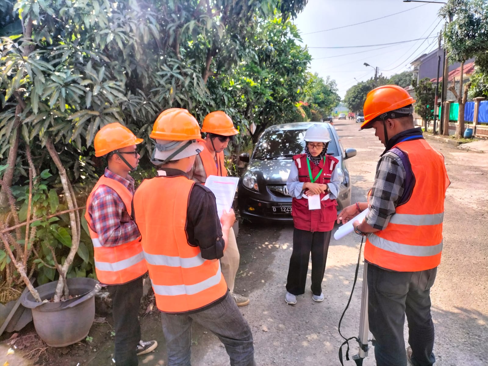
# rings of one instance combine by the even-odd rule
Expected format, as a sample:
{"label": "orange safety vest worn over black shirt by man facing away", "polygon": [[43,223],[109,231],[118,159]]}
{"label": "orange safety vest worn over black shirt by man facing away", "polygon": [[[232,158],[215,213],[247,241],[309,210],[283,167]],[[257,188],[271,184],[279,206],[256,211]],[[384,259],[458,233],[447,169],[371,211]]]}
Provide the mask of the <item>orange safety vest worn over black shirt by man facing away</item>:
{"label": "orange safety vest worn over black shirt by man facing away", "polygon": [[185,176],[145,179],[132,200],[156,306],[167,313],[198,310],[227,293],[220,262],[203,259],[186,237],[193,184]]}

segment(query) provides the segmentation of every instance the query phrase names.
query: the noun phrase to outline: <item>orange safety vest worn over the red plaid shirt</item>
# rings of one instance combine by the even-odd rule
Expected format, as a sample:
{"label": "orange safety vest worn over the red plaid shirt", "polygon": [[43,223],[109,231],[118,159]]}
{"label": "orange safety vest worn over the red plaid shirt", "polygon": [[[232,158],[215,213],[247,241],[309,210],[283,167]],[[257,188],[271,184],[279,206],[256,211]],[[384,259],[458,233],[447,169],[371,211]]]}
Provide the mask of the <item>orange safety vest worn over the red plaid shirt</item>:
{"label": "orange safety vest worn over the red plaid shirt", "polygon": [[112,188],[125,204],[130,215],[132,192],[122,183],[105,176],[100,177],[86,200],[85,219],[88,222],[88,230],[93,243],[95,256],[95,271],[98,280],[105,285],[122,285],[141,277],[147,272],[146,261],[142,253],[141,237],[129,243],[117,246],[103,246],[98,239],[98,234],[93,231],[91,217],[88,214],[93,193],[101,185]]}

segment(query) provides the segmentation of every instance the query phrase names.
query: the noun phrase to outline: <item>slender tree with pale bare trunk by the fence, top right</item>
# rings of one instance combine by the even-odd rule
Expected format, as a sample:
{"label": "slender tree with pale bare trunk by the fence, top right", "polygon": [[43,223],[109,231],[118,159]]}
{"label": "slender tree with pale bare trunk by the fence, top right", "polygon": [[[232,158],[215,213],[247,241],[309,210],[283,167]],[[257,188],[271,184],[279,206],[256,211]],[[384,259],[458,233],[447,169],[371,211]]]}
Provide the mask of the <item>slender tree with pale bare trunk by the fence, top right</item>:
{"label": "slender tree with pale bare trunk by the fence, top right", "polygon": [[464,63],[472,57],[486,54],[488,49],[488,3],[485,0],[448,0],[439,14],[445,18],[453,16],[444,30],[444,39],[449,59],[461,62],[459,92],[455,81],[448,89],[459,103],[456,137],[464,133],[464,108],[471,82],[464,84]]}

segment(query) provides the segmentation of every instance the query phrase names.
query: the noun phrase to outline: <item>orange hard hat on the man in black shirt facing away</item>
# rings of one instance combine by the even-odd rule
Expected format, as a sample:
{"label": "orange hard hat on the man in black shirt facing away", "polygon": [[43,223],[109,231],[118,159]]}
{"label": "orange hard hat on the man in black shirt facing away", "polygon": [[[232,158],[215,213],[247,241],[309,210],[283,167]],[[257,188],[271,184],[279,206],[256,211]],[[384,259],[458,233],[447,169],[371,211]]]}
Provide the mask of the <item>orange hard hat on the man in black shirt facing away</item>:
{"label": "orange hard hat on the man in black shirt facing away", "polygon": [[149,137],[168,141],[203,141],[196,118],[183,108],[170,108],[161,112]]}

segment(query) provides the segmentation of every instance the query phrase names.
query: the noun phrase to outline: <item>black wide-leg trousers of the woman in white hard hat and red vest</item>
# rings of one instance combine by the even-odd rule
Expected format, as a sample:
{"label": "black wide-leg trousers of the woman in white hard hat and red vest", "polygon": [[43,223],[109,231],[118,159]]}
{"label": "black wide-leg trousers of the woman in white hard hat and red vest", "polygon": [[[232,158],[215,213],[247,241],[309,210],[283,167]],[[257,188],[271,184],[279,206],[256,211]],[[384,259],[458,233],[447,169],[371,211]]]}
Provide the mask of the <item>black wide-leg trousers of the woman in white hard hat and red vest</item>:
{"label": "black wide-leg trousers of the woman in white hard hat and red vest", "polygon": [[312,253],[312,293],[322,293],[325,262],[329,250],[330,233],[332,231],[307,231],[296,227],[293,229],[293,251],[288,268],[286,291],[293,295],[305,293],[308,259]]}

